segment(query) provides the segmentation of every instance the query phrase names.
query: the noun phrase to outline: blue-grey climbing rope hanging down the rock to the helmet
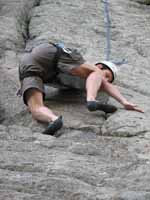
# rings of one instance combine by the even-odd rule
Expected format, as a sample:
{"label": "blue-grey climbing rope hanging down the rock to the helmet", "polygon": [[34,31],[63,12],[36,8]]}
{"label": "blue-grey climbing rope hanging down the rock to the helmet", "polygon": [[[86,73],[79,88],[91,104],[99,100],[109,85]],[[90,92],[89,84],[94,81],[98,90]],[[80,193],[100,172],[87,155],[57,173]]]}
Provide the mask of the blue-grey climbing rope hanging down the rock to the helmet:
{"label": "blue-grey climbing rope hanging down the rock to the helmet", "polygon": [[[109,16],[109,3],[108,0],[102,0],[104,3],[104,23],[105,23],[105,29],[106,29],[106,57],[105,60],[110,61],[110,55],[111,55],[111,20]],[[113,61],[116,65],[121,65],[127,63],[125,59],[122,59],[120,61]]]}

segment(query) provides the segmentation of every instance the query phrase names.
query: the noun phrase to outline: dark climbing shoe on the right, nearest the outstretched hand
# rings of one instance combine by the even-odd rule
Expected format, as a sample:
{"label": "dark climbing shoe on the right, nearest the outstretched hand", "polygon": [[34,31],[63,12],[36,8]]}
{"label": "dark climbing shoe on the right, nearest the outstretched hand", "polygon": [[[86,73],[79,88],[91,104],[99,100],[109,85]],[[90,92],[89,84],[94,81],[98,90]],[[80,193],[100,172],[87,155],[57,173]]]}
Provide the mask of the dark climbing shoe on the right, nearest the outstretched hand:
{"label": "dark climbing shoe on the right, nearest the outstretched hand", "polygon": [[117,108],[109,104],[101,104],[97,101],[87,101],[87,108],[89,111],[101,110],[105,113],[114,113]]}

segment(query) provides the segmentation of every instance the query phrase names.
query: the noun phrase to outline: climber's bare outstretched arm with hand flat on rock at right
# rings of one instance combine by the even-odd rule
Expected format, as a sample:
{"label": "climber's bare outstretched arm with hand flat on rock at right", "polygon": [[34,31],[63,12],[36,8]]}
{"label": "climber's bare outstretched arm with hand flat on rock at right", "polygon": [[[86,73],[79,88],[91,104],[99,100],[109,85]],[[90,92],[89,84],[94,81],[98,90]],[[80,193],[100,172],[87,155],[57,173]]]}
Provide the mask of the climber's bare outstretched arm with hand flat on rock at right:
{"label": "climber's bare outstretched arm with hand flat on rock at right", "polygon": [[110,96],[115,98],[118,102],[120,102],[126,110],[134,110],[138,112],[144,112],[141,108],[139,108],[136,104],[129,102],[118,90],[118,88],[107,80],[103,79],[102,87],[105,92],[107,92]]}

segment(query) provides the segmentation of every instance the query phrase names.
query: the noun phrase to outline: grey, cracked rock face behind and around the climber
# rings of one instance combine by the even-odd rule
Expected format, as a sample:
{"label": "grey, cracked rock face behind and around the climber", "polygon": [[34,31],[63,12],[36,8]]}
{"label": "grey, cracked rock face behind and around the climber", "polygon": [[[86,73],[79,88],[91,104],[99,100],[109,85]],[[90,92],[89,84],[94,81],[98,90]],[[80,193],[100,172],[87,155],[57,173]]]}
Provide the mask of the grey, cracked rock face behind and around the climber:
{"label": "grey, cracked rock face behind and around the climber", "polygon": [[[116,85],[144,114],[89,113],[85,96],[47,87],[64,116],[58,138],[42,135],[22,100],[18,65],[43,41],[65,41],[90,62],[105,57],[103,1],[0,0],[0,200],[150,199],[150,7],[111,0],[111,59],[126,58]],[[107,95],[100,95],[107,101]]]}

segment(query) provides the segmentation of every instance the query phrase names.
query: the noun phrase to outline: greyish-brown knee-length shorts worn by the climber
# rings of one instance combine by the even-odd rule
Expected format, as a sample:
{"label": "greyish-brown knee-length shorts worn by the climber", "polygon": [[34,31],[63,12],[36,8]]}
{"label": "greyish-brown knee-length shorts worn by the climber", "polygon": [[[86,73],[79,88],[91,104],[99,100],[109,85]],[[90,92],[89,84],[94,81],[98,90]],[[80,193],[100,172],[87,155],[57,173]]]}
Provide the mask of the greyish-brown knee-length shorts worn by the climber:
{"label": "greyish-brown knee-length shorts worn by the climber", "polygon": [[21,82],[20,94],[26,101],[26,92],[29,89],[37,89],[45,97],[44,84],[52,83],[60,73],[70,74],[71,69],[83,64],[85,60],[76,49],[68,52],[62,50],[58,59],[57,69],[54,66],[54,58],[57,48],[49,43],[41,44],[27,53],[19,64],[19,78]]}

